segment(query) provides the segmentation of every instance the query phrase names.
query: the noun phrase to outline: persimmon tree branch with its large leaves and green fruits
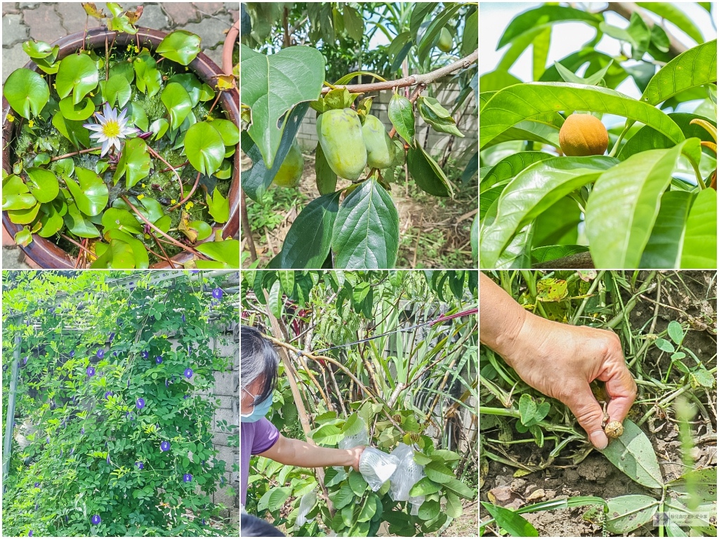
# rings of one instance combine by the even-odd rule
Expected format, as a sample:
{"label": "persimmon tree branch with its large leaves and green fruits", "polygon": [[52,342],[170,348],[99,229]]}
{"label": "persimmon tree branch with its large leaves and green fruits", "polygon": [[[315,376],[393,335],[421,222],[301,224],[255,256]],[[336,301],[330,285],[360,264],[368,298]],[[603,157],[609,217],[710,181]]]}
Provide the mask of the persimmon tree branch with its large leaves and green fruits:
{"label": "persimmon tree branch with its large leaves and green fruits", "polygon": [[[382,22],[370,30],[362,12],[370,18],[371,11],[374,19],[374,4],[302,6],[253,4],[249,11],[255,26],[243,33],[245,43],[262,50],[242,45],[242,149],[252,159],[252,168],[242,174],[244,193],[262,203],[273,182],[279,186],[298,183],[303,157],[296,133],[309,108],[316,113],[319,139],[315,161],[319,196],[297,216],[281,252],[268,267],[393,267],[400,243],[398,208],[390,194],[393,184],[396,188],[412,178],[426,193],[452,198],[455,189],[467,187],[452,185],[436,155],[430,155],[426,143],[418,142],[417,116],[423,119],[426,133],[431,127],[464,137],[455,116],[476,97],[477,7],[388,4],[380,16]],[[290,17],[297,27],[288,33],[285,24],[280,38],[270,34],[266,19],[280,20],[282,11],[285,21]],[[370,34],[381,32],[391,43],[381,52],[368,50],[349,61],[355,66],[381,65],[383,75],[402,73],[403,78],[385,80],[380,73],[355,67],[352,73],[339,75],[334,84],[327,83],[326,78],[335,76],[336,64],[344,65],[346,60],[336,58],[336,41],[341,48],[362,50],[369,45],[365,27]],[[321,50],[290,45],[303,34],[315,44],[321,40]],[[421,74],[409,75],[409,69]],[[377,82],[349,84],[362,75]],[[459,86],[452,111],[436,98],[449,77]],[[288,84],[288,79],[293,83]],[[375,97],[367,94],[375,91],[393,91],[389,133],[379,113],[373,114]],[[451,147],[452,142],[448,144]],[[464,171],[466,183],[476,173],[475,156]],[[351,183],[340,187],[338,178]],[[254,262],[249,220],[245,223]]]}

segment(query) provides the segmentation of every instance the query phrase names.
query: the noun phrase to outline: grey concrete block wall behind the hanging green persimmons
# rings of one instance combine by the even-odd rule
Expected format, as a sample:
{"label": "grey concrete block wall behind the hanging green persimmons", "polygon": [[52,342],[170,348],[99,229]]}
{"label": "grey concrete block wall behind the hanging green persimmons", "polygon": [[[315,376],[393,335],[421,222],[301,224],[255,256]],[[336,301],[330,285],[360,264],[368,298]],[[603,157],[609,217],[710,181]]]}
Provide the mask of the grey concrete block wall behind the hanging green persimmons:
{"label": "grey concrete block wall behind the hanging green persimmons", "polygon": [[[448,86],[445,90],[441,91],[436,98],[445,109],[451,112],[454,108],[453,103],[454,100],[457,99],[457,96],[459,96],[459,89],[454,85]],[[382,92],[376,95],[375,101],[372,101],[371,110],[371,114],[377,116],[377,118],[385,124],[388,131],[392,129],[392,124],[387,116],[390,98],[392,98],[392,92]],[[464,138],[454,138],[452,156],[460,160],[462,165],[464,165],[467,159],[472,155],[471,149],[477,149],[479,121],[477,119],[476,107],[475,97],[472,95],[467,98],[467,101],[464,102],[457,114],[454,115],[454,119],[457,120],[457,126],[459,126],[459,131],[464,134]],[[419,143],[428,150],[429,155],[437,157],[444,151],[451,135],[436,132],[431,127],[429,127],[428,130],[427,127],[427,124],[421,116],[418,116],[416,135]],[[300,128],[297,132],[297,142],[305,153],[311,153],[317,147],[316,113],[313,109],[307,111],[305,118],[300,124]]]}

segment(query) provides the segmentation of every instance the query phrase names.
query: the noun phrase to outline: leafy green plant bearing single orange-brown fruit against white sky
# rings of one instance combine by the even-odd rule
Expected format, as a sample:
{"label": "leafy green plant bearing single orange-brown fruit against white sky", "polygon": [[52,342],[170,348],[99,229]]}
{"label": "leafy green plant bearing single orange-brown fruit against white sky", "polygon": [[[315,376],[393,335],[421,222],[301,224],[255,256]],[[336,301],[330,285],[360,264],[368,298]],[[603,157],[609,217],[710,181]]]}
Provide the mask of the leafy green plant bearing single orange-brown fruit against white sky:
{"label": "leafy green plant bearing single orange-brown fruit against white sky", "polygon": [[[607,11],[628,27],[610,24]],[[687,50],[649,14],[697,45]],[[563,22],[595,38],[546,65]],[[618,55],[597,48],[606,37]],[[505,45],[480,77],[481,267],[715,268],[716,40],[679,8],[610,2],[599,13],[525,11]],[[524,82],[509,70],[530,45],[533,80]],[[640,97],[616,91],[627,80]]]}

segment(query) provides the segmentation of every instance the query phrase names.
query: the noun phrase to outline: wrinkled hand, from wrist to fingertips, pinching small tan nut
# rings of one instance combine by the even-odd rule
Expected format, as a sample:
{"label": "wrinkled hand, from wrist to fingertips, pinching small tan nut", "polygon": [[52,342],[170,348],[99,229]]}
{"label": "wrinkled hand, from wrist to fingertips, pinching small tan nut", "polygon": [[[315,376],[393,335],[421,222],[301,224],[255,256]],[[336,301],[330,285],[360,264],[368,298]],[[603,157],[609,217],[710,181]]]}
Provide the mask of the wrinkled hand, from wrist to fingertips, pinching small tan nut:
{"label": "wrinkled hand, from wrist to fingertips, pinching small tan nut", "polygon": [[612,331],[569,326],[527,313],[521,328],[499,351],[527,384],[564,402],[597,449],[608,439],[603,410],[590,382],[605,382],[609,421],[623,421],[636,397],[619,338]]}

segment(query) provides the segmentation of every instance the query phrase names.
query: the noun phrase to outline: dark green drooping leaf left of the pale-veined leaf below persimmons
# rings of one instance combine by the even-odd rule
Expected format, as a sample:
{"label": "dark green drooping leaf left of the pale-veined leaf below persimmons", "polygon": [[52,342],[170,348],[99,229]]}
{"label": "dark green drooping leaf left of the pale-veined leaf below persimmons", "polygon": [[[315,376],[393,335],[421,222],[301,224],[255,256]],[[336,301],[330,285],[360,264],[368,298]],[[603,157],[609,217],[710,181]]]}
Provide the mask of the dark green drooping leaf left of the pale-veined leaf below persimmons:
{"label": "dark green drooping leaf left of the pale-veined leaf below persimmons", "polygon": [[315,198],[300,212],[285,236],[280,252],[280,267],[322,267],[332,244],[332,230],[339,211],[340,193],[341,191],[337,191]]}

